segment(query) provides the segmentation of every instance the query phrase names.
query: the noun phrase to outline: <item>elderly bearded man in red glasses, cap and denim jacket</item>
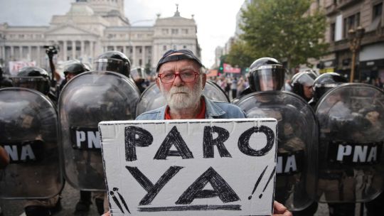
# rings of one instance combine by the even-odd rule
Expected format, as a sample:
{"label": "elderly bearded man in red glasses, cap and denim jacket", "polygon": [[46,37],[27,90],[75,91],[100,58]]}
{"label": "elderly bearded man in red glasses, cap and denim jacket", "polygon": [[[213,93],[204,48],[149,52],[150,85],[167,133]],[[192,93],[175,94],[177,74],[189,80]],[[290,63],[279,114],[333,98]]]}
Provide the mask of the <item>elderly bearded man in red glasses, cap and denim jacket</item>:
{"label": "elderly bearded man in red glasses, cap and denim jacket", "polygon": [[[167,104],[144,112],[137,120],[245,118],[239,107],[225,102],[213,102],[202,95],[207,78],[202,68],[203,64],[191,50],[169,50],[164,53],[156,67],[156,85]],[[292,214],[284,205],[275,201],[274,216],[277,215]]]}

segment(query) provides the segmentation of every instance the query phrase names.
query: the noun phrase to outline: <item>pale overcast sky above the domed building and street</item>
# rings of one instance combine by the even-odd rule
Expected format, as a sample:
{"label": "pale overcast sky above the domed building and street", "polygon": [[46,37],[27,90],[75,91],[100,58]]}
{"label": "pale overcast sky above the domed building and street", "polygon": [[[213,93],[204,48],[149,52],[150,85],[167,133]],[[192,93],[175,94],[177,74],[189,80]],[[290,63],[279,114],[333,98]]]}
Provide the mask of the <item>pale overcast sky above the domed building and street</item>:
{"label": "pale overcast sky above the domed building and street", "polygon": [[[10,26],[48,26],[53,15],[63,15],[75,0],[0,0],[0,23]],[[176,4],[180,15],[194,15],[203,65],[215,62],[215,48],[224,46],[235,34],[236,14],[244,0],[125,0],[125,16],[133,26],[151,26],[156,14],[174,16]],[[152,21],[143,21],[152,20]]]}

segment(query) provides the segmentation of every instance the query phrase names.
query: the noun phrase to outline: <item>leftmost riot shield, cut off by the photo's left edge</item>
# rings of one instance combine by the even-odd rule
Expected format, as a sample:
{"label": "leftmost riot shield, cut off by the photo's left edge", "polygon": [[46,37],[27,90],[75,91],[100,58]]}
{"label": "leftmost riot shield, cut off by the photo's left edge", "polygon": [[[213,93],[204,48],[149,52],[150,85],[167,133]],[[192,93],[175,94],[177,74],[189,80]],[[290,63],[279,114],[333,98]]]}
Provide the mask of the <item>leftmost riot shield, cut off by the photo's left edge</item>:
{"label": "leftmost riot shield, cut off by the photo's left edge", "polygon": [[0,90],[0,146],[10,158],[0,171],[0,198],[50,198],[63,188],[58,114],[41,92]]}

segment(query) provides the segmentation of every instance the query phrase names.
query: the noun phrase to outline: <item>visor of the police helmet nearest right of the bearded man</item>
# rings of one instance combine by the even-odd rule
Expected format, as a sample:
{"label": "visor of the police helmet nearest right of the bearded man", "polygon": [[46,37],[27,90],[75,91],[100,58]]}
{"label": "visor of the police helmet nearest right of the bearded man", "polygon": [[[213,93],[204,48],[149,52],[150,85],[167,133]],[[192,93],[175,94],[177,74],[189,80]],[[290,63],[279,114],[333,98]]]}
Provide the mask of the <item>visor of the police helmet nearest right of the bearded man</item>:
{"label": "visor of the police helmet nearest right of the bearded man", "polygon": [[[272,67],[271,67],[272,66]],[[279,65],[268,65],[268,67],[260,67],[255,71],[255,85],[260,87],[260,91],[277,91],[281,90],[284,85],[285,69]],[[258,82],[258,83],[257,83]]]}

